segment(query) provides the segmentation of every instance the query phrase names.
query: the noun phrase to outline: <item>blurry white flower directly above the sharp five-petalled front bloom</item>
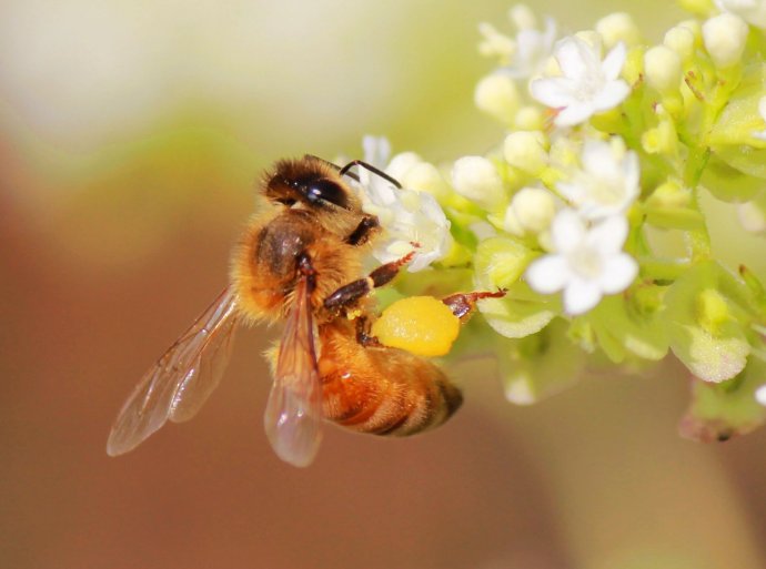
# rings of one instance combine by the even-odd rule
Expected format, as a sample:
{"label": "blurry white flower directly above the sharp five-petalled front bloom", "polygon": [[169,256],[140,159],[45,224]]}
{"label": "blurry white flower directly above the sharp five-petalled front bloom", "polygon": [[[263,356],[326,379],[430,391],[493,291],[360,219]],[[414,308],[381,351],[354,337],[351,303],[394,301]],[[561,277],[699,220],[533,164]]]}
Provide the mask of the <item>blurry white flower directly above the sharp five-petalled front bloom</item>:
{"label": "blurry white flower directly above the sharp five-petalled front bloom", "polygon": [[587,140],[579,155],[582,170],[556,189],[586,220],[623,214],[638,196],[638,155],[622,139]]}

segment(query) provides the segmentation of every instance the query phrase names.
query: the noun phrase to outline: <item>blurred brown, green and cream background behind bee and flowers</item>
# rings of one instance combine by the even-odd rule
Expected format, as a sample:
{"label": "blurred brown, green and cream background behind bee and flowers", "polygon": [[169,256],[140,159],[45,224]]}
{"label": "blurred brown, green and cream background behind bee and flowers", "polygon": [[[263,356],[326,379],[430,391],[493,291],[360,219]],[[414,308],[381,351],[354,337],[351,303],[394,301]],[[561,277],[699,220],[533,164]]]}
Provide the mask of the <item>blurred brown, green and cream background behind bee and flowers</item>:
{"label": "blurred brown, green and cream background behind bee and flowers", "polygon": [[[224,286],[273,160],[439,162],[500,128],[472,104],[476,24],[504,0],[3,0],[0,4],[0,567],[749,569],[766,566],[766,433],[676,435],[673,362],[530,408],[492,364],[412,440],[327,428],[312,468],[269,449],[261,352],[239,334],[191,423],[109,458],[133,384]],[[662,0],[541,1],[570,31]],[[715,206],[716,243],[762,263]],[[763,243],[763,242],[762,242]],[[763,273],[762,273],[763,274]]]}

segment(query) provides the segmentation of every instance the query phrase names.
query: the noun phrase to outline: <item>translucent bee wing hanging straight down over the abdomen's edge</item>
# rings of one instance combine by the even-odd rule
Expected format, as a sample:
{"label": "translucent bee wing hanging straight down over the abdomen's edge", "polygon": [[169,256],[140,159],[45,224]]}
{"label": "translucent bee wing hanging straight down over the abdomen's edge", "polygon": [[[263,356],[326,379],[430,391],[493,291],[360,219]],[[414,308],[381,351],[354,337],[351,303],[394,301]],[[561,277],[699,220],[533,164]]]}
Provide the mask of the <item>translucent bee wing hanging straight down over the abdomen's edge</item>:
{"label": "translucent bee wing hanging straight down over the abdomen's edge", "polygon": [[274,453],[293,466],[309,466],[322,440],[322,394],[314,323],[305,278],[295,287],[293,309],[280,344],[263,425]]}

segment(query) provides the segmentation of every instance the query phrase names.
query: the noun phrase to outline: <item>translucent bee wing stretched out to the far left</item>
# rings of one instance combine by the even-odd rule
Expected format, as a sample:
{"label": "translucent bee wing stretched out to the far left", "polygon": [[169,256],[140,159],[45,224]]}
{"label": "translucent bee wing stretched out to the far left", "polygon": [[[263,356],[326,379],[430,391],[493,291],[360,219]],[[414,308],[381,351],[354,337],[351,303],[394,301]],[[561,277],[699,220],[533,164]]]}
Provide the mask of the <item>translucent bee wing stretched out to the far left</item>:
{"label": "translucent bee wing stretched out to the far left", "polygon": [[221,380],[238,322],[236,295],[226,288],[135,386],[109,434],[109,455],[128,453],[168,419],[181,423],[200,410]]}

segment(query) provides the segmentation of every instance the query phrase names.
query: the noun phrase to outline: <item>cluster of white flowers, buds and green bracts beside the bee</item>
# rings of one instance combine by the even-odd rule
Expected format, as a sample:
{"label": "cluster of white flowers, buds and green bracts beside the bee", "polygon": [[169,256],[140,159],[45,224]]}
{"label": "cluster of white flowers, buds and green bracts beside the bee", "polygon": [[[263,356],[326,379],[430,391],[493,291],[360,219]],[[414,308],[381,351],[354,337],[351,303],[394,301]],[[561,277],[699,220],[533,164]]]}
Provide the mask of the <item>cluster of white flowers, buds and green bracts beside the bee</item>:
{"label": "cluster of white flowers, buds and green bracts beside the bee", "polygon": [[573,34],[525,6],[510,33],[481,24],[497,67],[475,103],[503,140],[434,165],[365,139],[404,190],[363,171],[359,187],[384,227],[380,261],[417,244],[402,295],[506,292],[453,352],[493,350],[510,400],[672,353],[693,385],[682,433],[723,440],[766,421],[766,291],[714,256],[701,197],[766,234],[766,0],[685,4],[654,45],[626,13]]}

